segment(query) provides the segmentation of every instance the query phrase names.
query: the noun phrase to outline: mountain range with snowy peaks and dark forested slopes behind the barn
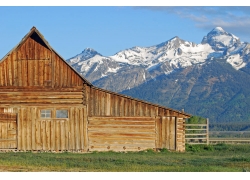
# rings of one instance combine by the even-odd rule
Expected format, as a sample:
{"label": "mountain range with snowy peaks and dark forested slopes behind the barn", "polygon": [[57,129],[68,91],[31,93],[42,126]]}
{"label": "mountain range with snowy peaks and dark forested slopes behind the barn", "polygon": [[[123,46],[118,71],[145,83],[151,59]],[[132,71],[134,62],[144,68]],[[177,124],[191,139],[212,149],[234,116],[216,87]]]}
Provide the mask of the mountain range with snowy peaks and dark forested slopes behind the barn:
{"label": "mountain range with snowy peaks and dark forested slopes behind the barn", "polygon": [[211,122],[250,121],[250,44],[216,27],[200,44],[178,36],[113,56],[94,49],[67,60],[95,86]]}

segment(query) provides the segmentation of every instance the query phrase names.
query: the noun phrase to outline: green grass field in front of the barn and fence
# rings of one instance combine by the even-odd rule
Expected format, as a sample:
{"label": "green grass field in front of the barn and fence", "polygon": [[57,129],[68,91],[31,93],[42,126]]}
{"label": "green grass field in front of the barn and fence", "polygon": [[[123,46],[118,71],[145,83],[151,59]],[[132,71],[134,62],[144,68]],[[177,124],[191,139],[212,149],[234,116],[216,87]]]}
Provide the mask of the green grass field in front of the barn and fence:
{"label": "green grass field in front of the barn and fence", "polygon": [[187,145],[186,152],[0,153],[2,172],[248,172],[250,145]]}

